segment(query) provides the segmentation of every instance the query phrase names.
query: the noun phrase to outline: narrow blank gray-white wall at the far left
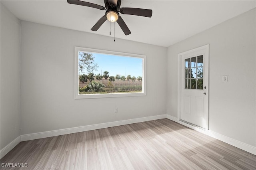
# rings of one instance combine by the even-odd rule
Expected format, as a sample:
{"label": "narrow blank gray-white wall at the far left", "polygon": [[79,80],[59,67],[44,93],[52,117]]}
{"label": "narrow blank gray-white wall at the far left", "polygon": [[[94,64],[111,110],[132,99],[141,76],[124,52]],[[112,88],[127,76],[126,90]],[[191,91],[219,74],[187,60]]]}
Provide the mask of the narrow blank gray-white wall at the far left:
{"label": "narrow blank gray-white wall at the far left", "polygon": [[1,144],[20,136],[20,21],[1,4]]}

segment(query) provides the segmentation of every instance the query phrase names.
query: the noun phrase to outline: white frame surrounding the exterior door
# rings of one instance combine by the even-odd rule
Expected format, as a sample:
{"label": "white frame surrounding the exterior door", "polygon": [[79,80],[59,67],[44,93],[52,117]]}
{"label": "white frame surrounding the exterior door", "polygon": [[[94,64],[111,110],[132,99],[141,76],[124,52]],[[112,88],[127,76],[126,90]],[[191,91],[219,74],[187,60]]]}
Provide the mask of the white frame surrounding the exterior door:
{"label": "white frame surrounding the exterior door", "polygon": [[[182,53],[178,53],[178,120],[181,121],[181,73],[182,73],[182,66],[181,66],[181,58],[182,58],[182,55],[185,55],[187,53],[191,53],[193,51],[198,51],[198,50],[202,50],[202,49],[205,49],[206,50],[206,53],[205,53],[205,59],[204,59],[204,65],[207,65],[208,68],[205,69],[204,67],[204,74],[205,75],[208,75],[208,81],[204,79],[204,86],[206,86],[206,93],[208,94],[207,97],[208,97],[208,102],[205,103],[206,104],[206,107],[208,108],[207,109],[207,114],[206,114],[206,128],[205,130],[209,130],[209,44],[206,44],[206,45],[203,45],[203,46],[200,46],[200,47],[197,47],[197,48],[194,48],[194,49],[190,49],[188,51],[184,51]],[[182,121],[183,122],[183,121]],[[189,124],[189,123],[188,123]],[[191,124],[190,124],[191,125]]]}

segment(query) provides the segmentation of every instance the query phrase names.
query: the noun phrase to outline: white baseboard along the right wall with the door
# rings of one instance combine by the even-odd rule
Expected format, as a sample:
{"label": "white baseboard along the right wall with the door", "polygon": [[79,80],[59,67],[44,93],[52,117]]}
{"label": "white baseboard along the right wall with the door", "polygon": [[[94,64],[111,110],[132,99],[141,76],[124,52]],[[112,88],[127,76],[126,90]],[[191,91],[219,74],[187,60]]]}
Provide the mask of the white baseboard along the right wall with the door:
{"label": "white baseboard along the right wall with the door", "polygon": [[179,121],[178,118],[173,117],[173,116],[170,116],[170,115],[166,115],[166,118],[167,118],[167,119],[170,119],[170,120],[172,120],[172,121],[174,121],[174,122],[177,122],[177,123],[179,123],[179,124],[181,124],[181,125],[184,125],[184,126],[186,126],[186,127],[189,127],[189,128],[194,129],[194,130],[197,130],[197,131],[199,131],[199,132],[202,132],[202,133],[204,133],[204,134],[207,134],[208,136],[211,136],[211,137],[213,137],[213,138],[216,138],[216,139],[218,139],[218,140],[221,140],[222,142],[228,143],[228,144],[230,144],[230,145],[232,145],[232,146],[235,146],[235,147],[237,147],[237,148],[240,148],[240,149],[242,149],[242,150],[245,150],[246,152],[249,152],[249,153],[251,153],[251,154],[256,155],[256,147],[255,147],[255,146],[251,146],[251,145],[249,145],[249,144],[246,144],[246,143],[244,143],[244,142],[240,142],[239,140],[230,138],[230,137],[228,137],[228,136],[224,136],[223,134],[219,134],[219,133],[214,132],[214,131],[211,131],[211,130],[202,130],[202,129],[200,129],[200,128],[197,128],[197,127],[194,127],[194,126],[189,125],[189,124],[187,124],[187,123],[184,123],[184,122],[182,122],[182,121]]}

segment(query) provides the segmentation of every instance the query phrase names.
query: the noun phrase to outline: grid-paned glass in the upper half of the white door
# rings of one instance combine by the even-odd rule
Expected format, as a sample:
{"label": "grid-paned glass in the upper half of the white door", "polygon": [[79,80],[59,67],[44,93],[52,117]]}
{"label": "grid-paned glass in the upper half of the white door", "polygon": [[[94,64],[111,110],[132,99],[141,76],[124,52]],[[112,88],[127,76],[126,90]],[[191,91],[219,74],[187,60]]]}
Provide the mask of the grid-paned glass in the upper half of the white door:
{"label": "grid-paned glass in the upper half of the white door", "polygon": [[203,89],[204,56],[185,59],[185,89]]}

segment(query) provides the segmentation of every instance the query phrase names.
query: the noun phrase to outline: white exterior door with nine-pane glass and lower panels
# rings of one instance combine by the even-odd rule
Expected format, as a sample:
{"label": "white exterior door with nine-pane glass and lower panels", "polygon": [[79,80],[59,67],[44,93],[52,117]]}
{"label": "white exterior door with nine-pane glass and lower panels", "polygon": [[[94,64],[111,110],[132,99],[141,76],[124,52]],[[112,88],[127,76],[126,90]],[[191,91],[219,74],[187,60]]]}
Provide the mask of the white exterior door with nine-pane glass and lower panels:
{"label": "white exterior door with nine-pane glass and lower panels", "polygon": [[209,45],[179,54],[180,121],[208,128]]}

